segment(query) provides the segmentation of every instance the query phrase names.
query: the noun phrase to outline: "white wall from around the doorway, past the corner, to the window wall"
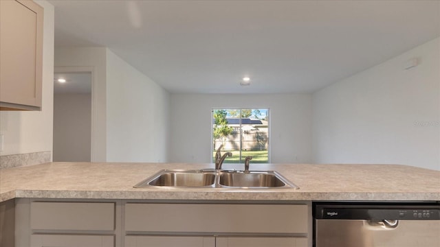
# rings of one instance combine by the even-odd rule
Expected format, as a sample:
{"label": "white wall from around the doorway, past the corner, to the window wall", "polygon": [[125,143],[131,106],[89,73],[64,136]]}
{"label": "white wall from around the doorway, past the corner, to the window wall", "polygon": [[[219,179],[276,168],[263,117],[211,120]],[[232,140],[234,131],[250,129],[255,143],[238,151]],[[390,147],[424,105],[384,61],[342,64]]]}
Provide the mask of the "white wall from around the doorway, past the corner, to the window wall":
{"label": "white wall from around the doorway, past the corner, to the window wall", "polygon": [[92,67],[92,161],[167,161],[169,94],[105,47],[56,47],[55,66]]}

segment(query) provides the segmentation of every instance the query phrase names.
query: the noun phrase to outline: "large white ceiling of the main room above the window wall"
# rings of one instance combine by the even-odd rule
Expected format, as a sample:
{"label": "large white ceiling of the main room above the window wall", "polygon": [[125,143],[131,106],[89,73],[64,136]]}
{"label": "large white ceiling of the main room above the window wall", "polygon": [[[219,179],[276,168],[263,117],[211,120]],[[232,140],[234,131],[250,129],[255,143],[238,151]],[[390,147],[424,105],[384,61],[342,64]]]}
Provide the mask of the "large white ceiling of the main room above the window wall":
{"label": "large white ceiling of the main room above the window wall", "polygon": [[50,3],[56,47],[109,47],[170,93],[311,93],[440,36],[440,1]]}

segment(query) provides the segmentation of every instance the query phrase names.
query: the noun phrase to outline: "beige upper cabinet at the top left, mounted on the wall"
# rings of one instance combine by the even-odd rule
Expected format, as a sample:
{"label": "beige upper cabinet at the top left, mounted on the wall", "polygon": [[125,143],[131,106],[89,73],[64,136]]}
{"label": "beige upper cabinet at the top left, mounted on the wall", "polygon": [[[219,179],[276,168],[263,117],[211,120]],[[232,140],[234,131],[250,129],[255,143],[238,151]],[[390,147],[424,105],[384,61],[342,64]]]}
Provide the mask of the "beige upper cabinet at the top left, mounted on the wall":
{"label": "beige upper cabinet at the top left, mounted on the wall", "polygon": [[0,110],[41,110],[43,8],[0,1]]}

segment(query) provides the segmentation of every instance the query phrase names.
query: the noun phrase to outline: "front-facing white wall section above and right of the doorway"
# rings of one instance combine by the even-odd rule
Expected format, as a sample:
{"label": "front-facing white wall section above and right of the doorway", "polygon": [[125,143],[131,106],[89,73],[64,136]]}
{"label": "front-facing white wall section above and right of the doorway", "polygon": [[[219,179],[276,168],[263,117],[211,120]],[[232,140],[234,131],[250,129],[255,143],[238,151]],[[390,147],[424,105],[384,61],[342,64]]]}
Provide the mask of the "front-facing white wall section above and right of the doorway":
{"label": "front-facing white wall section above and right of the doorway", "polygon": [[[76,67],[92,68],[92,128],[94,153],[91,161],[106,161],[107,158],[107,131],[106,131],[106,56],[104,47],[56,47],[55,66],[58,71],[72,70]],[[88,68],[87,68],[88,69]],[[53,74],[52,74],[53,76]],[[53,87],[53,82],[52,82]]]}

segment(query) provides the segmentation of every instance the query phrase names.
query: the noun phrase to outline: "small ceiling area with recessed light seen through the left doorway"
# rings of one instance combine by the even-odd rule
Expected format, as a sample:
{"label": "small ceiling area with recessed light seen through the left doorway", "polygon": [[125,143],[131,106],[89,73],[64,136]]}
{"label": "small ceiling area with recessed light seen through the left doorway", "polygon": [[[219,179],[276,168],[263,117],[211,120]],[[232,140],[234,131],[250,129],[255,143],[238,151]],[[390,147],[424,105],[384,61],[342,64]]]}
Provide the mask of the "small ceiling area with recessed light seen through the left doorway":
{"label": "small ceiling area with recessed light seen through the left doorway", "polygon": [[[66,82],[60,83],[58,79]],[[54,94],[91,93],[91,73],[54,73]]]}

